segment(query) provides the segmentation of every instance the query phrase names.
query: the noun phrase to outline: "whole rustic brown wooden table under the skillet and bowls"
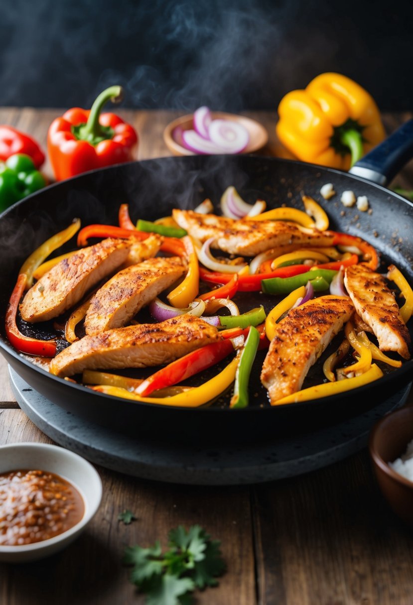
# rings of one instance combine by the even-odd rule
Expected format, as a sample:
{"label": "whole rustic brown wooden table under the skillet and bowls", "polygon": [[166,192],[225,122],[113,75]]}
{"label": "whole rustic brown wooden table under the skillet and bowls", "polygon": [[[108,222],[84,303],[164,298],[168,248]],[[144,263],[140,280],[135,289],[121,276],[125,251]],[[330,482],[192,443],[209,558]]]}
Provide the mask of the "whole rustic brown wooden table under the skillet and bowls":
{"label": "whole rustic brown wooden table under the skillet and bowls", "polygon": [[[170,155],[164,126],[178,112],[124,111],[140,136],[139,159]],[[29,132],[45,148],[58,110],[0,109],[0,123]],[[277,149],[275,113],[248,113]],[[408,114],[383,116],[392,131]],[[45,171],[50,174],[47,164]],[[413,188],[413,166],[397,178]],[[413,397],[410,396],[410,403]],[[0,443],[50,442],[19,410],[0,362]],[[169,529],[200,523],[222,540],[228,572],[199,605],[402,605],[412,603],[413,534],[389,510],[366,451],[306,476],[250,487],[206,488],[133,479],[98,468],[101,508],[67,550],[38,563],[0,564],[1,605],[144,603],[122,567],[125,546],[165,544]],[[117,521],[124,509],[137,520]]]}

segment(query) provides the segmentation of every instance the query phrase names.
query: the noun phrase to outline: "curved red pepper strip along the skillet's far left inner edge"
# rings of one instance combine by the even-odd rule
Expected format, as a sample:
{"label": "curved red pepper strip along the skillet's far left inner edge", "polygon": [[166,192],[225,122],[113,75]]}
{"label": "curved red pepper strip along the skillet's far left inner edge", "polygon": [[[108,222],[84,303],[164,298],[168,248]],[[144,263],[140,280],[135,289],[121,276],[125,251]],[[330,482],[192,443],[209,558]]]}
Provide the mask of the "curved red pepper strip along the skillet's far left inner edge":
{"label": "curved red pepper strip along the skillet's far left inner edge", "polygon": [[28,355],[41,355],[43,357],[54,357],[56,355],[56,342],[41,341],[36,338],[24,336],[17,327],[16,315],[20,299],[24,292],[27,281],[27,275],[20,273],[13,289],[10,301],[5,315],[5,332],[10,343],[21,353]]}

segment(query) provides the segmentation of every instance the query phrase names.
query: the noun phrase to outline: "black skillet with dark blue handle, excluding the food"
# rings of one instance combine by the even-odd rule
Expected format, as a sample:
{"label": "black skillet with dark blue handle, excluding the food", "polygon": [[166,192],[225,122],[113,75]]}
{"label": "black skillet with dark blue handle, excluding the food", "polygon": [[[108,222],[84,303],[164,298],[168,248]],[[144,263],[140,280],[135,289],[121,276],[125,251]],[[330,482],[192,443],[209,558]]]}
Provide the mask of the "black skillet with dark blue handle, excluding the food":
{"label": "black skillet with dark blue handle, excluding the food", "polygon": [[[148,220],[168,215],[177,206],[194,208],[205,197],[218,207],[220,195],[229,185],[234,185],[249,203],[257,197],[265,199],[268,208],[283,203],[302,208],[302,192],[312,195],[328,212],[331,229],[363,237],[382,254],[383,272],[390,262],[394,263],[413,283],[413,204],[382,186],[412,155],[413,120],[355,166],[353,172],[359,176],[274,158],[193,156],[146,160],[88,172],[33,194],[0,217],[2,354],[28,384],[51,402],[97,424],[133,434],[145,431],[176,439],[198,441],[205,437],[209,441],[223,438],[236,442],[303,427],[311,430],[311,425],[329,424],[371,408],[411,381],[412,360],[379,381],[345,394],[270,407],[259,381],[260,358],[251,378],[249,408],[230,410],[228,395],[210,407],[169,408],[97,394],[51,376],[8,344],[4,312],[24,259],[74,217],[80,217],[83,226],[117,224],[119,204],[125,202],[130,204],[131,217]],[[363,174],[380,180],[381,185],[365,180]],[[325,201],[319,191],[328,182],[334,184],[337,194]],[[340,194],[348,189],[356,196],[368,197],[372,214],[355,207],[343,208]],[[240,307],[251,309],[261,301],[262,295],[243,295]],[[267,310],[273,306],[271,302],[266,302]],[[217,368],[211,368],[201,379],[211,378],[216,372]]]}

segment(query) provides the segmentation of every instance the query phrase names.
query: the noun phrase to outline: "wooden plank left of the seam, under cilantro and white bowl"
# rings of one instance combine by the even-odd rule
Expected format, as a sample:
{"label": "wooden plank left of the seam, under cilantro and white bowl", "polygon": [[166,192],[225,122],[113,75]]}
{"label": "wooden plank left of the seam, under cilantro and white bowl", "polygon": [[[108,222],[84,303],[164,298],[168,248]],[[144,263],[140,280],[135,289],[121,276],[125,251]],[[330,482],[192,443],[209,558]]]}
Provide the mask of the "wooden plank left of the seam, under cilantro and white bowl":
{"label": "wooden plank left of the seam, under cilantro and white bowl", "polygon": [[[22,441],[51,443],[21,410],[0,410],[0,444]],[[222,540],[228,564],[219,587],[197,594],[197,603],[256,603],[248,488],[168,485],[97,470],[104,497],[90,528],[53,558],[22,566],[0,564],[2,605],[143,605],[121,564],[125,546],[157,539],[165,546],[171,528],[194,523]],[[117,521],[126,508],[137,517],[128,526]]]}

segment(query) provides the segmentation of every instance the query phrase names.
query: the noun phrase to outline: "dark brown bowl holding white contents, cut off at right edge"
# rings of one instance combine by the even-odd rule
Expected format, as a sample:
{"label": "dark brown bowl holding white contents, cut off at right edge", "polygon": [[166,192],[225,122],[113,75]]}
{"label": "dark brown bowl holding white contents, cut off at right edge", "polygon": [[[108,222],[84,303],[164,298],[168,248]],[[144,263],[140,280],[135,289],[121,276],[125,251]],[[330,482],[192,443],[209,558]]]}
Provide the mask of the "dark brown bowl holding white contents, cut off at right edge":
{"label": "dark brown bowl holding white contents, cut off at right edge", "polygon": [[413,526],[413,482],[389,466],[413,439],[413,407],[401,408],[380,420],[369,439],[369,451],[378,485],[394,512]]}

